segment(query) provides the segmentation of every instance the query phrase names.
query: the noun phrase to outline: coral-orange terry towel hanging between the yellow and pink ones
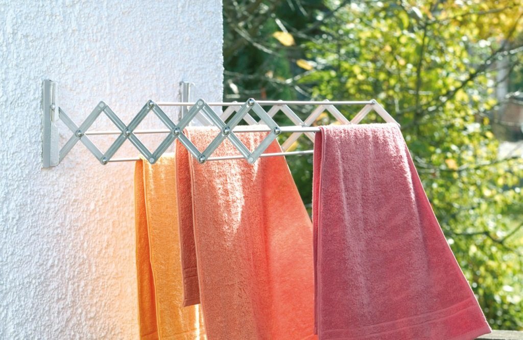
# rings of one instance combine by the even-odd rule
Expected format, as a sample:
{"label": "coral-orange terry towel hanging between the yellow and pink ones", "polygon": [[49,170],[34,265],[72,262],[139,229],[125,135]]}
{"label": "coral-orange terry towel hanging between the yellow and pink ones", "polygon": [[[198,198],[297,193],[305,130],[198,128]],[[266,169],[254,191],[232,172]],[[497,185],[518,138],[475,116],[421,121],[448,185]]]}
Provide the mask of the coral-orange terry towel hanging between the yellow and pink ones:
{"label": "coral-orange terry towel hanging between the yellow and pink ones", "polygon": [[[200,150],[218,133],[209,127],[187,131]],[[238,134],[249,149],[264,136]],[[267,149],[280,151],[277,142]],[[201,165],[178,142],[176,152],[180,184],[187,173],[191,181],[191,190],[180,186],[178,193],[180,209],[192,212],[192,221],[180,214],[180,238],[194,240],[181,254],[188,266],[186,302],[199,297],[209,338],[314,338],[312,225],[285,158]],[[212,156],[237,154],[225,140]],[[192,197],[180,196],[191,191]]]}

